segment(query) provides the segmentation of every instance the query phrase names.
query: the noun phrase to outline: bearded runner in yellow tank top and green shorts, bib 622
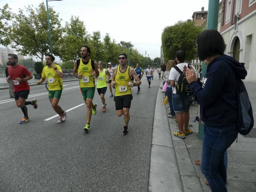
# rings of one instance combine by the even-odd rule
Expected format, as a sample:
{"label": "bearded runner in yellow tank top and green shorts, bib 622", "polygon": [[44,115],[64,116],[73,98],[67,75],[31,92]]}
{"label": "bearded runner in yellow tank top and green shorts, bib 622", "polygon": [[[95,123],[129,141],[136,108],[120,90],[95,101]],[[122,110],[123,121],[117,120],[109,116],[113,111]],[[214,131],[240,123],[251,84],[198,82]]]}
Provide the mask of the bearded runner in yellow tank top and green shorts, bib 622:
{"label": "bearded runner in yellow tank top and green shorts, bib 622", "polygon": [[84,126],[84,130],[89,131],[92,114],[95,115],[97,113],[97,104],[92,104],[92,99],[95,92],[94,77],[99,76],[99,71],[97,63],[89,59],[91,54],[90,48],[84,45],[80,52],[82,58],[77,59],[74,63],[74,75],[79,79],[81,92],[87,106],[87,122]]}

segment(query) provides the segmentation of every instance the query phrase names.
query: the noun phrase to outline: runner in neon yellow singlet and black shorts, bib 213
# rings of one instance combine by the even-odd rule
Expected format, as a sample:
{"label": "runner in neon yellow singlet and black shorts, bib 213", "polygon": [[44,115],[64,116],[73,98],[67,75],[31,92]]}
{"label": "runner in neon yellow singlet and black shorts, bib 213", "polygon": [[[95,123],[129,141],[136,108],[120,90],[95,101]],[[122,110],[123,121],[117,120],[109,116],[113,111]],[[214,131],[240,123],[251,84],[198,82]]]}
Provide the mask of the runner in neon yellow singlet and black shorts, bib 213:
{"label": "runner in neon yellow singlet and black shorts, bib 213", "polygon": [[[106,100],[105,100],[104,95],[107,91],[107,83],[109,82],[111,75],[108,70],[103,69],[103,63],[101,61],[99,61],[98,67],[99,67],[100,75],[98,76],[97,90],[98,90],[98,93],[100,95],[100,99],[102,102],[102,111],[105,112],[107,104],[105,102]],[[107,75],[108,75],[108,77],[107,77]]]}

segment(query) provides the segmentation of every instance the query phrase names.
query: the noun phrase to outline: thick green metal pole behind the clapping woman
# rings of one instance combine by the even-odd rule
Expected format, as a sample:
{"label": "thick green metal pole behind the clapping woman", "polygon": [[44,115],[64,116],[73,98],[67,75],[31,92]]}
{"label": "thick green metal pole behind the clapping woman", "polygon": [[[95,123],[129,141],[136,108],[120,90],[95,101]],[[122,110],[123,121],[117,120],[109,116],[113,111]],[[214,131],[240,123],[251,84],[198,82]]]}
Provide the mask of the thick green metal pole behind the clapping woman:
{"label": "thick green metal pole behind the clapping woman", "polygon": [[[218,28],[219,0],[208,1],[207,29]],[[205,76],[207,65],[202,61],[202,78]],[[204,126],[199,123],[198,138],[204,139]]]}

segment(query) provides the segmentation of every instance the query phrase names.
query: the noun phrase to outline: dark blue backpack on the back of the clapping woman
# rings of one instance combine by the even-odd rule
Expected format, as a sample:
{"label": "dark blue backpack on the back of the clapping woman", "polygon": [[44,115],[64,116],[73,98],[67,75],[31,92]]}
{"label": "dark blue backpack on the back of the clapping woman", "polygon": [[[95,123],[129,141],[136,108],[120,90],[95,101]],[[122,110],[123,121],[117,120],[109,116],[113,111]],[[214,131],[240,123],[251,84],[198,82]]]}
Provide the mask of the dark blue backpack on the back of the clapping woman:
{"label": "dark blue backpack on the back of the clapping woman", "polygon": [[236,98],[238,108],[238,132],[247,135],[252,130],[254,120],[252,114],[252,105],[249,100],[248,93],[241,79],[236,78]]}

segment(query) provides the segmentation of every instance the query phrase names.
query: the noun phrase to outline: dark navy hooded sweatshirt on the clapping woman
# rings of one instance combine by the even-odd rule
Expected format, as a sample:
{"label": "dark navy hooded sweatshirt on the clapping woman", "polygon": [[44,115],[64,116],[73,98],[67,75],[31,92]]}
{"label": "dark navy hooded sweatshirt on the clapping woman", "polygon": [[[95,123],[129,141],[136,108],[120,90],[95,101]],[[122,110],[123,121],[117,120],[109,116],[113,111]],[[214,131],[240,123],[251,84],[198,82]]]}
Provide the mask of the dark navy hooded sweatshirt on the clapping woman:
{"label": "dark navy hooded sweatshirt on the clapping woman", "polygon": [[208,126],[226,126],[236,123],[236,78],[244,79],[244,63],[222,55],[208,64],[203,87],[197,81],[189,84],[195,99],[200,103],[202,121]]}

